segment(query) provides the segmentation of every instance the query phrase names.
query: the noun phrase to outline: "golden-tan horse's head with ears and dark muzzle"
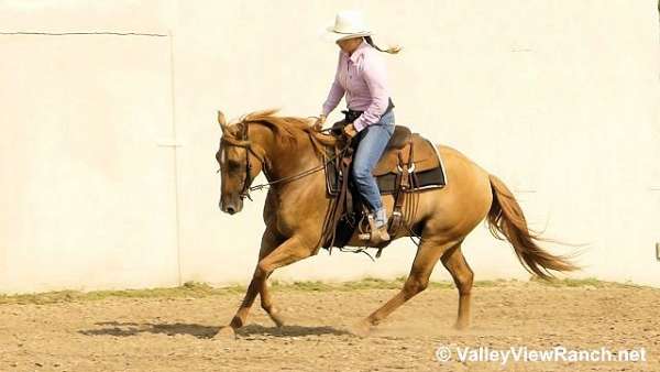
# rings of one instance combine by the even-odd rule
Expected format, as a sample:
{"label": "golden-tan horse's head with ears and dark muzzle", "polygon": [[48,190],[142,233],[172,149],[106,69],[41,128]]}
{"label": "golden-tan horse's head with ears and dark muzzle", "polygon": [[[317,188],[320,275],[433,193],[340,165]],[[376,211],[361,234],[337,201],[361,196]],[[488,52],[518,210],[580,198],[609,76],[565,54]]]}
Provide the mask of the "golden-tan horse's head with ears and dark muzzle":
{"label": "golden-tan horse's head with ears and dark muzzle", "polygon": [[243,209],[243,198],[250,197],[250,184],[262,169],[262,160],[256,156],[249,139],[249,123],[241,121],[227,124],[224,114],[218,111],[218,123],[222,129],[216,160],[220,165],[220,210],[233,215]]}

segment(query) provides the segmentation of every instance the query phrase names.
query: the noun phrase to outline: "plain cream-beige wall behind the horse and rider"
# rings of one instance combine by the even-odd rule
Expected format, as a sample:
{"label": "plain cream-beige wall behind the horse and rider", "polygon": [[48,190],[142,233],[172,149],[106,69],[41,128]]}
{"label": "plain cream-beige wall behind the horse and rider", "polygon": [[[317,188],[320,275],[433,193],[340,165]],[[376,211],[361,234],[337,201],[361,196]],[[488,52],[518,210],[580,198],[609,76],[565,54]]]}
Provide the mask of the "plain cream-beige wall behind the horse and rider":
{"label": "plain cream-beige wall behind the horse and rider", "polygon": [[[164,35],[0,35],[0,291],[244,283],[265,195],[218,210],[215,111],[316,114],[337,61],[319,31],[352,7],[404,45],[398,122],[587,244],[578,276],[660,285],[654,1],[0,1],[0,32]],[[403,275],[413,255],[321,252],[274,277]],[[465,255],[477,280],[528,277],[483,227]]]}

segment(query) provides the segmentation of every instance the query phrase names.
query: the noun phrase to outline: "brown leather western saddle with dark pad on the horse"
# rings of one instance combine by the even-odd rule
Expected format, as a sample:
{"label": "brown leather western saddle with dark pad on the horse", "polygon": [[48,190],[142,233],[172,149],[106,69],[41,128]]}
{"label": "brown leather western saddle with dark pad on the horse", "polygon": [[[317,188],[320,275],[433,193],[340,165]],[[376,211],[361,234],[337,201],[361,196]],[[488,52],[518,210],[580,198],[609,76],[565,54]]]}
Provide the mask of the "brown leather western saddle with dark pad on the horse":
{"label": "brown leather western saddle with dark pad on the horse", "polygon": [[[361,240],[369,240],[366,208],[349,177],[355,145],[342,135],[345,123],[346,120],[342,120],[332,127],[331,133],[337,142],[326,161],[326,184],[332,203],[323,223],[322,247],[329,250],[332,247],[343,248],[356,230]],[[436,146],[404,125],[395,127],[372,174],[381,194],[394,197],[394,209],[387,225],[391,241],[402,229],[410,230],[409,222],[417,211],[417,194],[446,185],[442,161]],[[376,258],[391,241],[375,247],[378,249]]]}

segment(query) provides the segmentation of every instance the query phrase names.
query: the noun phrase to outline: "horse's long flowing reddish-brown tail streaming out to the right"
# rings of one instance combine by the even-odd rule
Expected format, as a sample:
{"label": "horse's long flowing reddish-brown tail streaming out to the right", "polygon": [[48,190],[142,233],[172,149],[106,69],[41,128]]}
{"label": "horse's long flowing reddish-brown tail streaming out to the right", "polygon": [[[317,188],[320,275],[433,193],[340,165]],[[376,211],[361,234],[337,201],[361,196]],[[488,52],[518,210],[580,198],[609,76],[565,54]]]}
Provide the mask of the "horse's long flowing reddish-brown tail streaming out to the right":
{"label": "horse's long flowing reddish-brown tail streaming out to the right", "polygon": [[[568,258],[554,255],[538,245],[542,241],[537,232],[530,231],[522,209],[506,185],[494,175],[490,175],[493,204],[488,211],[488,229],[499,240],[508,240],[518,260],[525,269],[543,280],[553,277],[552,271],[579,270]],[[504,237],[503,237],[504,236]]]}

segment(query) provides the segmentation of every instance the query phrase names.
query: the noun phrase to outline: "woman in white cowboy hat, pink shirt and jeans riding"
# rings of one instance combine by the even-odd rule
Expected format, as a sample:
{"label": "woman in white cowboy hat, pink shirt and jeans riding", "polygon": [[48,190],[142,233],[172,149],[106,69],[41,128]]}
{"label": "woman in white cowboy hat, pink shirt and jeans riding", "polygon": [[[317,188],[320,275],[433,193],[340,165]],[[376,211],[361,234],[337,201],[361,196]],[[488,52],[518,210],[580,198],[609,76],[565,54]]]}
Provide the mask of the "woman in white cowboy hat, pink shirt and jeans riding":
{"label": "woman in white cowboy hat, pink shirt and jeans riding", "polygon": [[385,63],[377,52],[396,54],[400,48],[376,46],[362,14],[354,10],[339,12],[328,32],[341,51],[334,81],[315,127],[320,130],[345,92],[349,113],[343,132],[359,144],[353,157],[353,179],[370,210],[370,242],[378,244],[389,240],[389,234],[387,214],[372,169],[394,132],[394,105]]}

